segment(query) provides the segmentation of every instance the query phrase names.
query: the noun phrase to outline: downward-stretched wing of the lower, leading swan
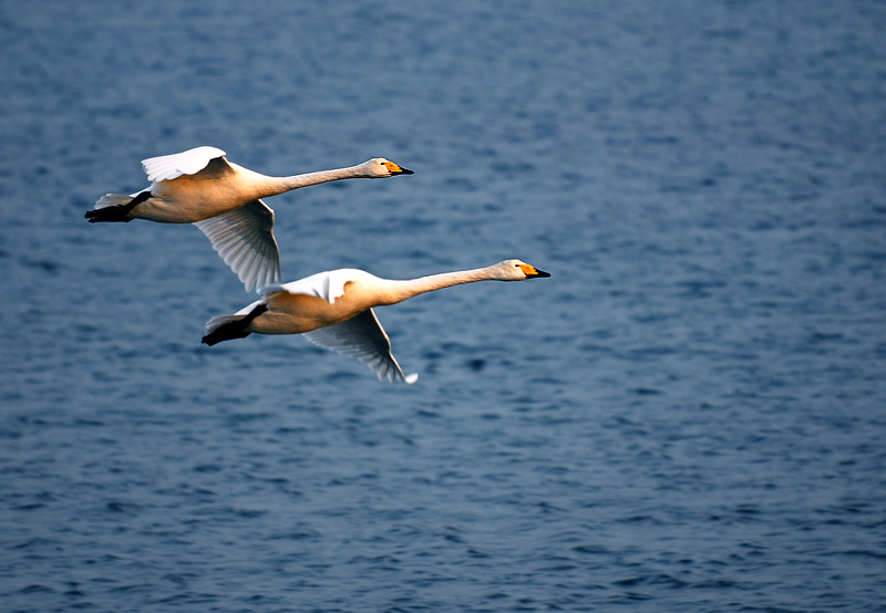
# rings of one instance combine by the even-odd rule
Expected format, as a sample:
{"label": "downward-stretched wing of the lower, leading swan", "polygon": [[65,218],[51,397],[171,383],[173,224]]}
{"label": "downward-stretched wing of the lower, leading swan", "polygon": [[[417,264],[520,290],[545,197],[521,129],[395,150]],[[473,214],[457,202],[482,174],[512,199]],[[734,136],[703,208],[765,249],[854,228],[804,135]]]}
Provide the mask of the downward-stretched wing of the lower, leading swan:
{"label": "downward-stretched wing of the lower, leading swan", "polygon": [[323,349],[353,357],[375,373],[379,381],[415,383],[419,375],[403,374],[391,353],[391,341],[384,333],[372,309],[368,309],[348,321],[318,328],[302,336]]}

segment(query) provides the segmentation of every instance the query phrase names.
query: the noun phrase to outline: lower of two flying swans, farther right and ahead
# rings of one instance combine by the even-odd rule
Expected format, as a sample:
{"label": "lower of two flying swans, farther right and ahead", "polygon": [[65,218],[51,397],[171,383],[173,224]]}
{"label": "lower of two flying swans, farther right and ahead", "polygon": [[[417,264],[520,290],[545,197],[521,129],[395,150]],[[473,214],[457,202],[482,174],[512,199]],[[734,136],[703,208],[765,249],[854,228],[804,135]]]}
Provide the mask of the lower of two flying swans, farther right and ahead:
{"label": "lower of two flying swans, farther right and ahead", "polygon": [[404,281],[381,279],[364,270],[318,272],[299,281],[259,289],[261,299],[233,315],[206,323],[203,343],[215,345],[257,334],[303,334],[308,341],[357,359],[379,380],[414,383],[391,353],[374,306],[396,304],[415,295],[475,281],[523,281],[550,277],[522,260],[485,268],[443,272]]}

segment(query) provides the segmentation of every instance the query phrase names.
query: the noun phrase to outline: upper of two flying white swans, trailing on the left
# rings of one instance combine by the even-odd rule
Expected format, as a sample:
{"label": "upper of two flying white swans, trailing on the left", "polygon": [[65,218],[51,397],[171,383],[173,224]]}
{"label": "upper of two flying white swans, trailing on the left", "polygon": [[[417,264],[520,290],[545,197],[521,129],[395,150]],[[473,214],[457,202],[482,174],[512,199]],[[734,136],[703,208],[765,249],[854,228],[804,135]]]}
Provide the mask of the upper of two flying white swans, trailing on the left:
{"label": "upper of two flying white swans, trailing on the left", "polygon": [[354,178],[412,175],[383,157],[357,166],[268,177],[228,162],[217,147],[196,147],[142,160],[151,186],[131,194],[105,194],[86,212],[91,224],[147,219],[194,224],[225,263],[251,291],[280,282],[280,253],[274,238],[274,211],[261,198],[299,187]]}

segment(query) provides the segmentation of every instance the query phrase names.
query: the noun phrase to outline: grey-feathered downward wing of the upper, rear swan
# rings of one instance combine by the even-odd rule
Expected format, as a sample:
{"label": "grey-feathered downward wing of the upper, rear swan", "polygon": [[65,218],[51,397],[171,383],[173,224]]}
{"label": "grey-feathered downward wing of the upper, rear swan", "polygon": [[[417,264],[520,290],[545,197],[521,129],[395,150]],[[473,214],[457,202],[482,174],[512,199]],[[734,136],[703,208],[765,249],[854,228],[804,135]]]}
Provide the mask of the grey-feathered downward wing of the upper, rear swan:
{"label": "grey-feathered downward wing of the upper, rear swan", "polygon": [[194,224],[237,273],[246,291],[280,282],[280,251],[274,238],[274,211],[253,200],[230,212]]}

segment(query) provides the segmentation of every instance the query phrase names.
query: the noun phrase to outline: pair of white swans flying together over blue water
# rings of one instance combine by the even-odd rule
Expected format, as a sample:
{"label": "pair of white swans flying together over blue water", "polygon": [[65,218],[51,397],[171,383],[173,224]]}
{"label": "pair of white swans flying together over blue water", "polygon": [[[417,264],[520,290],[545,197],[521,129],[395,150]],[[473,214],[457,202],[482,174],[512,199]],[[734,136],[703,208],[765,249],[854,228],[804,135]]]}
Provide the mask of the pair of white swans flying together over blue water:
{"label": "pair of white swans flying together over blue water", "polygon": [[380,380],[414,383],[391,353],[391,342],[374,306],[395,304],[430,291],[475,281],[523,281],[550,277],[521,260],[444,272],[411,280],[381,279],[357,269],[339,269],[279,284],[280,254],[274,238],[274,211],[261,200],[299,187],[350,178],[411,175],[377,157],[333,170],[269,177],[226,159],[216,147],[197,147],[142,162],[151,186],[128,196],[106,194],[86,212],[90,222],[147,219],[194,224],[250,291],[261,299],[233,315],[213,318],[203,342],[257,334],[302,334],[312,343],[354,357]]}

